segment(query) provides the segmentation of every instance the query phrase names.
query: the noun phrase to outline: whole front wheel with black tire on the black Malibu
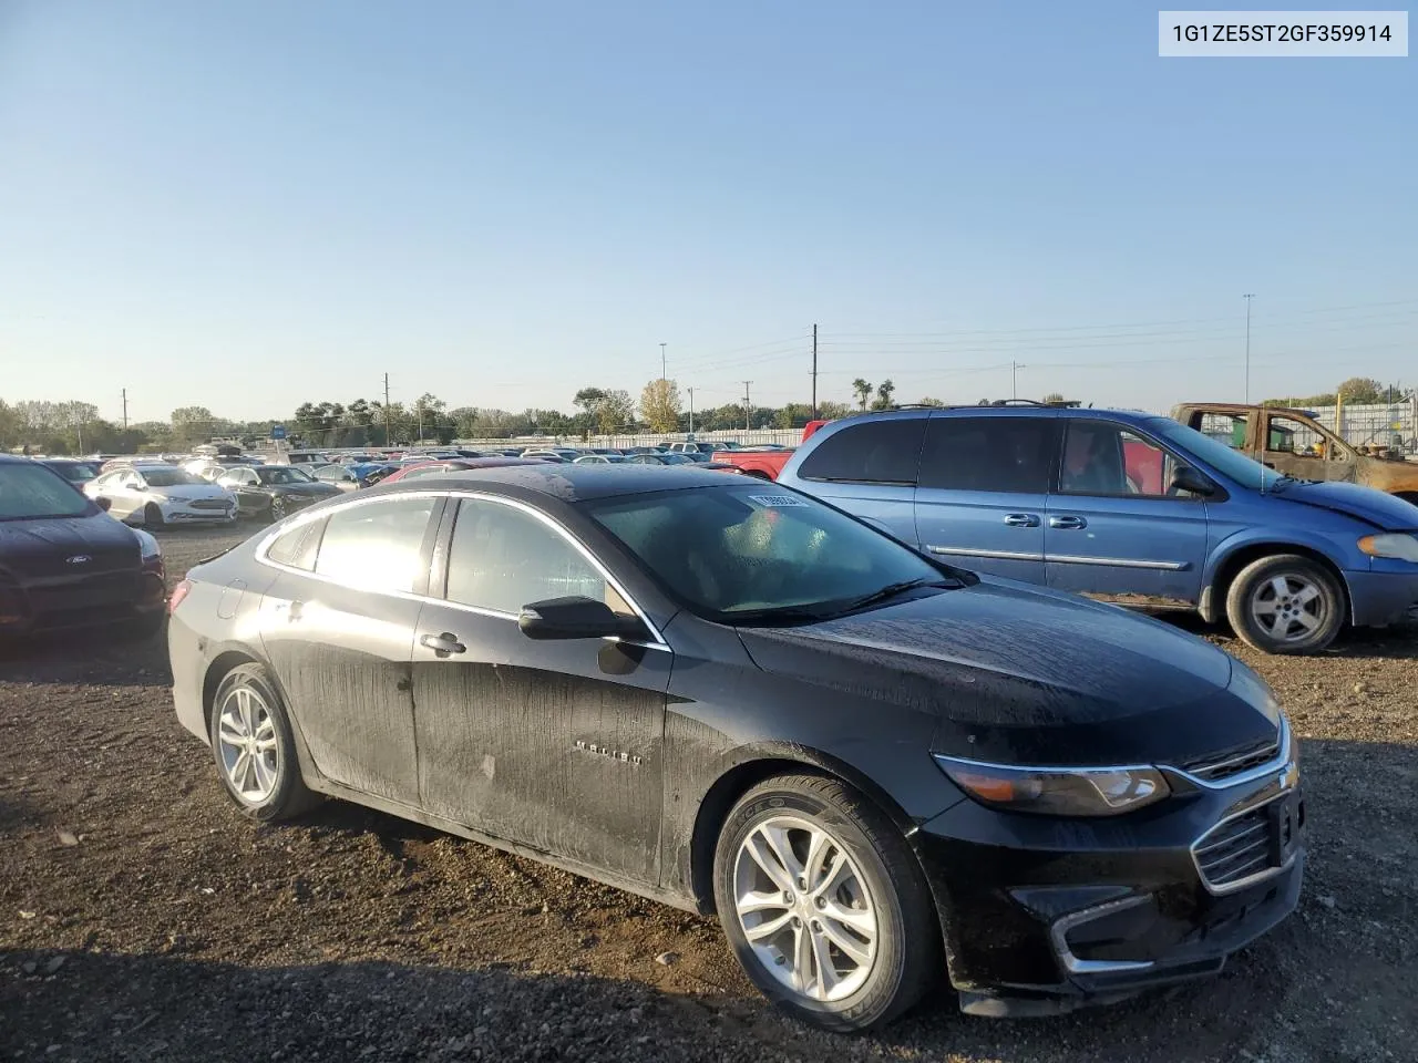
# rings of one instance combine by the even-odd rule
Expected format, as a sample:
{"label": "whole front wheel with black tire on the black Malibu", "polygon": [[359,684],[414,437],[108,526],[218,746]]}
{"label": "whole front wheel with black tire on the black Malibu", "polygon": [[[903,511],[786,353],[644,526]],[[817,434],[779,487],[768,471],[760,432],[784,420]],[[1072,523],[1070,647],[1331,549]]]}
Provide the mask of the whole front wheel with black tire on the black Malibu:
{"label": "whole front wheel with black tire on the black Malibu", "polygon": [[[873,1029],[937,981],[940,931],[920,866],[896,826],[838,780],[781,775],[744,794],[719,833],[713,883],[744,972],[797,1019],[835,1032]],[[757,903],[740,913],[750,893]],[[824,969],[835,985],[824,986]]]}

